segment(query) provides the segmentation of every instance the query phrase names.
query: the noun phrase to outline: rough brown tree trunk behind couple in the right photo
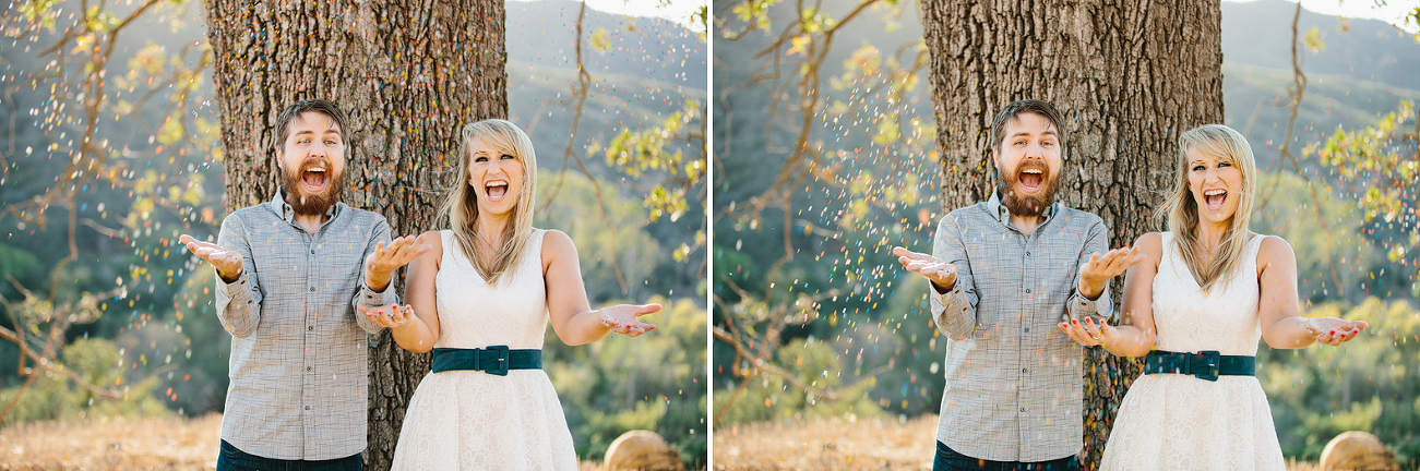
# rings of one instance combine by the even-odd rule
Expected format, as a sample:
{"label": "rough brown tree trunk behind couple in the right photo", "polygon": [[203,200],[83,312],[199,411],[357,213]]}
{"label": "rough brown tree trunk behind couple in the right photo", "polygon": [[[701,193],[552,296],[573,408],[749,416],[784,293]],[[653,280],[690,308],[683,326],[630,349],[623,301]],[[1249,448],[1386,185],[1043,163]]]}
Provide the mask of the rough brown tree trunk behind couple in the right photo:
{"label": "rough brown tree trunk behind couple in the right photo", "polygon": [[[947,210],[990,197],[991,119],[1038,98],[1069,131],[1061,201],[1103,218],[1110,247],[1162,228],[1150,217],[1172,187],[1179,132],[1223,122],[1216,0],[923,0],[922,17]],[[1139,366],[1086,349],[1083,468],[1098,467]]]}

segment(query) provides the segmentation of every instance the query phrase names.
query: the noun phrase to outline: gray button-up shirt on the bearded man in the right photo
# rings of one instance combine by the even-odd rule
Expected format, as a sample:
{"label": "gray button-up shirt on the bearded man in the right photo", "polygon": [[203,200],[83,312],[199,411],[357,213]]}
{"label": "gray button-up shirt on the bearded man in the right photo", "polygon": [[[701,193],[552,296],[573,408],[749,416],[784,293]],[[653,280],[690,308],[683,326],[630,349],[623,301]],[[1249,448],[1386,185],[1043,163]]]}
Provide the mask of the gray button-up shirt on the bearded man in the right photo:
{"label": "gray button-up shirt on the bearded man in the right photo", "polygon": [[1082,346],[1055,326],[1112,316],[1109,288],[1085,299],[1079,265],[1109,250],[1099,216],[1052,204],[1031,236],[997,194],[947,214],[933,255],[957,265],[957,284],[933,292],[947,335],[947,387],[937,441],[991,461],[1049,461],[1081,451]]}

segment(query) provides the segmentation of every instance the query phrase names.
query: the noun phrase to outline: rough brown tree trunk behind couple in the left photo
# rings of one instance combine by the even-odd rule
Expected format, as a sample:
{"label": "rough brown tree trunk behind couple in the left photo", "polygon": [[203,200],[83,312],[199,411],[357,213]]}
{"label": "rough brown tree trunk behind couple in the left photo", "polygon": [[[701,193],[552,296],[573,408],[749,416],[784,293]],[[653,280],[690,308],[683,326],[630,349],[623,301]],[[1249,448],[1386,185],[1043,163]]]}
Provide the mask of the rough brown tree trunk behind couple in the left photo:
{"label": "rough brown tree trunk behind couple in the left photo", "polygon": [[[325,98],[352,128],[342,200],[396,236],[435,228],[459,126],[508,113],[504,18],[496,0],[207,1],[229,211],[274,194],[281,109]],[[369,352],[365,464],[386,470],[429,358],[388,331]]]}

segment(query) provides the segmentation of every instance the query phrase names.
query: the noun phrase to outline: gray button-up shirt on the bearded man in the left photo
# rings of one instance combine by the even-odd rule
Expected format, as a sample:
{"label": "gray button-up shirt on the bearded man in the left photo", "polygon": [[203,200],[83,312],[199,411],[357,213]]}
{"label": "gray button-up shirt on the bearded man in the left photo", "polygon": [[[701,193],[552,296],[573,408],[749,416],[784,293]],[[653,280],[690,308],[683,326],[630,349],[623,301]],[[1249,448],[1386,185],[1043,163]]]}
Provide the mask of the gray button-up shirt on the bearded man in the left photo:
{"label": "gray button-up shirt on the bearded man in the left photo", "polygon": [[398,302],[365,287],[365,257],[389,240],[376,213],[337,203],[312,236],[277,192],[231,213],[217,244],[241,254],[241,277],[217,278],[217,318],[231,333],[222,438],[277,460],[334,460],[365,450],[365,332],[355,311]]}

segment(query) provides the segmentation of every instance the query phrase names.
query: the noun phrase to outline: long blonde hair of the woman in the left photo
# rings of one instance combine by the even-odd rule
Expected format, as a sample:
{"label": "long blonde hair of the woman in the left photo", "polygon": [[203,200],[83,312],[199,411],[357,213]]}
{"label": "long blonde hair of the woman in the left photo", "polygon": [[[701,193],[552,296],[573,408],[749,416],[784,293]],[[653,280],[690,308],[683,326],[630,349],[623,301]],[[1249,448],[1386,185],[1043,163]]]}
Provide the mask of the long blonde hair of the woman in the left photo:
{"label": "long blonde hair of the woman in the left photo", "polygon": [[[479,194],[469,182],[474,142],[506,152],[523,163],[523,190],[518,192],[518,203],[513,206],[513,220],[503,230],[503,247],[497,248],[491,261],[480,258],[474,245],[479,238]],[[449,218],[449,228],[453,230],[459,248],[473,268],[490,285],[497,285],[504,272],[515,270],[523,261],[523,253],[532,233],[532,206],[535,206],[532,199],[537,189],[537,155],[532,153],[532,140],[523,129],[504,119],[484,119],[463,126],[459,136],[457,182],[440,211]]]}

